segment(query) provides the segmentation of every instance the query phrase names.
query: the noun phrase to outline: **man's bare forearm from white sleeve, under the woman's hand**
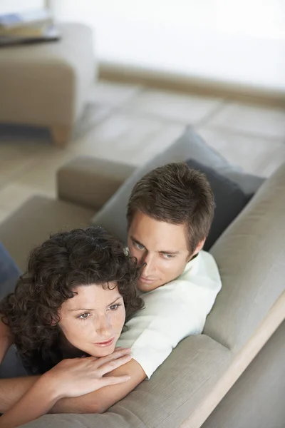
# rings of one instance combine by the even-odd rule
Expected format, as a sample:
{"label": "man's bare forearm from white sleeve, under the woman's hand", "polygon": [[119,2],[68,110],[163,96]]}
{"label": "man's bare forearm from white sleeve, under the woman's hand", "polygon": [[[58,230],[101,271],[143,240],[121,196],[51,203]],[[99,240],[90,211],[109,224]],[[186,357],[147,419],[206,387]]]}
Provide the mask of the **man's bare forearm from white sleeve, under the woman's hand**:
{"label": "man's bare forearm from white sleeve, under the woman's hand", "polygon": [[122,384],[103,387],[90,394],[76,398],[62,398],[56,402],[51,413],[103,413],[116,402],[123,399],[129,392],[145,379],[145,372],[135,360],[118,367],[106,376],[121,376],[128,374],[130,380]]}

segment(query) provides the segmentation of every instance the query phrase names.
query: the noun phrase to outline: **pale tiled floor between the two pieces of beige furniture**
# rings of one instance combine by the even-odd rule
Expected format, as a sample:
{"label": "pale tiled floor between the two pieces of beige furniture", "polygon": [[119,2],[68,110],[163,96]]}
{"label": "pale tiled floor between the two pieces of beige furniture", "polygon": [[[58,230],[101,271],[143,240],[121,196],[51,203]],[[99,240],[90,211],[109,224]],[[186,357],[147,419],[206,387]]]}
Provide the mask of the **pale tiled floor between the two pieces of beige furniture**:
{"label": "pale tiled floor between the two pieces of beige furniture", "polygon": [[0,127],[0,222],[35,193],[56,197],[56,170],[72,158],[140,165],[189,124],[249,173],[268,176],[285,161],[285,111],[100,81],[65,149],[46,131]]}

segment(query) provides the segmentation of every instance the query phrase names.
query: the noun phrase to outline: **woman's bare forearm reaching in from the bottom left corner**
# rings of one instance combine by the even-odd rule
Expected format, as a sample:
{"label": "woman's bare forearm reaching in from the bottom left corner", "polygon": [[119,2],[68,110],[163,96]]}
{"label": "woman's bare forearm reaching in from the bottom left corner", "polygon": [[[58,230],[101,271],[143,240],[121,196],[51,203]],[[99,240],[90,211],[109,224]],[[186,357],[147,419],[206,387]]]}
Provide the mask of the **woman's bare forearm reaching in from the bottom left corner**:
{"label": "woman's bare forearm reaching in from the bottom left corner", "polygon": [[43,375],[0,417],[0,428],[15,428],[46,414],[58,401],[56,384]]}

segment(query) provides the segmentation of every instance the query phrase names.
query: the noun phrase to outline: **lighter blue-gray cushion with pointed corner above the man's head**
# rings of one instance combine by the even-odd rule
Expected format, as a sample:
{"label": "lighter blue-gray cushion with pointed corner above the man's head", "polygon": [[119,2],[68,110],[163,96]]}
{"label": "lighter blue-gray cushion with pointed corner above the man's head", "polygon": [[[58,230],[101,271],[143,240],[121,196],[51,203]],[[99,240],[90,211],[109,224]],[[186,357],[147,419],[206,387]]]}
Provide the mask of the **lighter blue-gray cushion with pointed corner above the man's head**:
{"label": "lighter blue-gray cushion with pointed corner above the man's head", "polygon": [[239,183],[246,194],[254,193],[264,181],[262,178],[244,174],[240,168],[230,165],[217,151],[207,146],[192,128],[187,128],[187,131],[166,151],[158,154],[150,162],[135,170],[115,195],[108,200],[108,203],[93,217],[92,223],[103,226],[126,243],[126,208],[130,192],[135,183],[145,173],[157,168],[157,166],[165,165],[165,163],[169,162],[184,162],[190,158],[219,170],[229,178],[234,177],[234,181]]}

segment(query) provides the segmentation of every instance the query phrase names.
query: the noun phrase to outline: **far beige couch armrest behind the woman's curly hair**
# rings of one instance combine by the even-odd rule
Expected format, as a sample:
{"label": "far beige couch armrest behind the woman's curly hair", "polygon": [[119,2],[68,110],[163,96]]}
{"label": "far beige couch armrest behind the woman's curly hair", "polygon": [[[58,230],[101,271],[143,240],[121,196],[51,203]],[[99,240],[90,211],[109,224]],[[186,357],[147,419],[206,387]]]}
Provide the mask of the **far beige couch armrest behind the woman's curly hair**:
{"label": "far beige couch armrest behind the woman's curly hair", "polygon": [[78,157],[57,172],[58,198],[100,210],[134,170],[133,165]]}

